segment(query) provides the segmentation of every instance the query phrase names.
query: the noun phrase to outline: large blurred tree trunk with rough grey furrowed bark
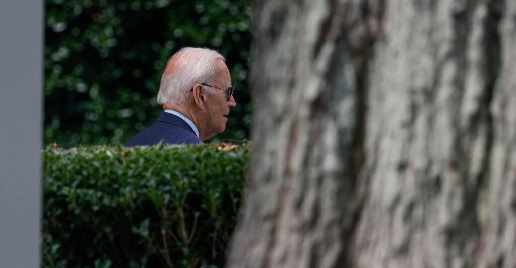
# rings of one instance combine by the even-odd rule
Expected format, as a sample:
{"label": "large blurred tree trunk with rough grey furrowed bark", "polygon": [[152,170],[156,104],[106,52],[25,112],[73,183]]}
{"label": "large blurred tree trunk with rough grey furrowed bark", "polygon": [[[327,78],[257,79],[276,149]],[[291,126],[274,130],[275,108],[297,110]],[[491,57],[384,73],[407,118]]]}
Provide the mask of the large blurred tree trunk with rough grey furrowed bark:
{"label": "large blurred tree trunk with rough grey furrowed bark", "polygon": [[229,267],[515,267],[516,1],[254,3]]}

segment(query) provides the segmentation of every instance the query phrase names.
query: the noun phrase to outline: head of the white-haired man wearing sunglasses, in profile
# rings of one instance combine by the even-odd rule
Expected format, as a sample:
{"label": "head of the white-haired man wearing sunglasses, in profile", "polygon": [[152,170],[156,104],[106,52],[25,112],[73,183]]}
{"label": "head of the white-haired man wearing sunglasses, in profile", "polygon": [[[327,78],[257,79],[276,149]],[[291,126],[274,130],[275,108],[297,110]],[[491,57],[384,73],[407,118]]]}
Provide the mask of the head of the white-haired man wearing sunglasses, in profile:
{"label": "head of the white-haired man wearing sunglasses, in profile", "polygon": [[233,96],[228,100],[231,88],[231,75],[222,55],[211,49],[186,47],[169,59],[157,100],[190,118],[201,140],[206,140],[225,130],[225,116],[236,106]]}

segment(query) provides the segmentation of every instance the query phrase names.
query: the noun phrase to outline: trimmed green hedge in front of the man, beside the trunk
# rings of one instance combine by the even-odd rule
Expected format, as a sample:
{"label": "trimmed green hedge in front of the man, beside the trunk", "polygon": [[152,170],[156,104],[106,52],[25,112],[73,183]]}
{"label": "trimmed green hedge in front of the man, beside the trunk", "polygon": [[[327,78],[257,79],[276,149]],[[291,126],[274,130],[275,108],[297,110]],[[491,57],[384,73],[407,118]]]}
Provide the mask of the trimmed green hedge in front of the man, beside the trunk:
{"label": "trimmed green hedge in front of the man, beside the trunk", "polygon": [[250,145],[43,152],[42,265],[220,267]]}

